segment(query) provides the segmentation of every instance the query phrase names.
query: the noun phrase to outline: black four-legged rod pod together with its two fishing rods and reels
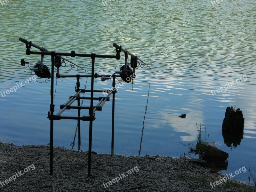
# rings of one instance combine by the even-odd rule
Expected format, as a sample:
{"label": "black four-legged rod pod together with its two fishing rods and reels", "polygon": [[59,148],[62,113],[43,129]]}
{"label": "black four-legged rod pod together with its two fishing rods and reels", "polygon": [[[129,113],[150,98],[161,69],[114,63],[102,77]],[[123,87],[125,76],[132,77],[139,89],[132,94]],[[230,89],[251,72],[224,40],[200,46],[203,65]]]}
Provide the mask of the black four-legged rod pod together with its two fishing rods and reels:
{"label": "black four-legged rod pod together with its two fishing rods and reels", "polygon": [[[27,55],[41,55],[41,60],[39,60],[33,68],[30,67],[30,62],[26,62],[24,59],[20,60],[21,66],[25,66],[25,64],[28,64],[28,67],[31,71],[34,71],[35,74],[38,77],[41,78],[50,78],[51,77],[51,104],[50,104],[50,111],[48,111],[48,116],[47,118],[50,120],[50,175],[53,175],[53,127],[54,127],[54,120],[61,120],[61,119],[70,119],[70,120],[76,120],[77,121],[77,129],[78,129],[78,150],[80,150],[80,145],[81,145],[81,121],[89,121],[89,140],[88,140],[88,166],[87,166],[87,177],[91,177],[91,164],[92,164],[92,123],[96,119],[95,118],[95,112],[96,111],[101,111],[102,107],[107,101],[110,101],[110,96],[112,95],[112,132],[111,132],[111,154],[114,155],[114,126],[115,126],[115,94],[117,92],[116,89],[116,74],[120,74],[120,77],[126,82],[129,83],[132,80],[133,83],[133,78],[135,78],[135,68],[138,66],[138,60],[135,55],[132,55],[129,53],[127,50],[123,49],[121,46],[116,45],[116,55],[106,55],[106,54],[96,54],[96,53],[91,53],[91,54],[81,54],[81,53],[76,53],[75,51],[71,51],[71,53],[68,52],[55,52],[55,51],[48,51],[47,49],[40,47],[36,44],[33,44],[31,41],[27,41],[26,39],[20,38],[19,39],[21,42],[26,44],[26,54]],[[30,48],[31,46],[36,47],[39,49],[39,52],[36,51],[31,51]],[[95,68],[95,59],[96,58],[109,58],[109,59],[120,59],[120,52],[124,51],[125,53],[125,63],[124,65],[120,68],[120,71],[115,71],[111,75],[98,75],[97,73],[94,74],[94,68]],[[128,59],[128,54],[132,56],[131,62],[127,63]],[[48,68],[46,65],[43,64],[44,61],[44,55],[50,55],[51,56],[51,73],[50,73],[50,68]],[[87,75],[60,75],[59,73],[59,68],[61,67],[61,63],[65,61],[68,61],[72,64],[71,67],[75,68],[74,66],[79,67],[78,65],[74,64],[73,62],[61,57],[61,56],[71,56],[71,57],[87,57],[91,58],[91,74]],[[63,60],[61,62],[61,60]],[[140,60],[141,61],[141,60]],[[143,61],[141,61],[143,62]],[[145,63],[143,63],[145,64]],[[133,68],[133,70],[129,67]],[[64,103],[63,105],[60,105],[60,111],[58,113],[54,113],[55,111],[55,105],[54,105],[54,67],[57,68],[57,73],[56,73],[56,78],[76,78],[76,86],[75,86],[75,95],[69,96],[69,100]],[[83,68],[82,68],[83,69]],[[85,69],[83,69],[85,70]],[[85,70],[85,72],[88,73],[88,71]],[[104,81],[105,79],[111,79],[112,77],[112,88],[108,90],[95,90],[94,89],[94,78],[101,77]],[[81,88],[80,87],[80,78],[91,78],[91,89],[86,90],[86,87]],[[101,79],[101,80],[102,80]],[[87,81],[86,81],[87,82]],[[57,85],[57,80],[56,80],[56,85]],[[56,88],[55,88],[56,91]],[[87,92],[90,94],[90,97],[81,97],[81,93]],[[104,94],[104,96],[97,96],[96,94]],[[82,103],[80,102],[82,100],[90,100],[90,105],[89,106],[82,106]],[[94,100],[98,100],[98,104],[95,105]],[[77,101],[77,106],[74,106],[71,104]],[[77,110],[77,115],[76,116],[65,116],[62,115],[62,113],[65,110],[70,110],[70,109],[76,109]],[[88,115],[81,115],[81,109],[87,109],[89,110]]]}

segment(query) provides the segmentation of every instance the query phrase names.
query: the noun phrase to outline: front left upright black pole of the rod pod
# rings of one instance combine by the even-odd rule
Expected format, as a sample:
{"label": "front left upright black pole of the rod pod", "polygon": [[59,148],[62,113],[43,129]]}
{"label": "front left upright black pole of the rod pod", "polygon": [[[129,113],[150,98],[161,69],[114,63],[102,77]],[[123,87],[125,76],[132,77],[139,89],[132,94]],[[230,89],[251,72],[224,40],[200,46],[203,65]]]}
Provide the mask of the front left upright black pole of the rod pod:
{"label": "front left upright black pole of the rod pod", "polygon": [[[51,52],[52,57],[52,78],[51,78],[51,105],[50,105],[50,111],[51,116],[53,116],[54,113],[54,104],[53,104],[53,83],[54,83],[54,55],[55,52]],[[52,175],[53,170],[53,119],[50,121],[50,175]]]}

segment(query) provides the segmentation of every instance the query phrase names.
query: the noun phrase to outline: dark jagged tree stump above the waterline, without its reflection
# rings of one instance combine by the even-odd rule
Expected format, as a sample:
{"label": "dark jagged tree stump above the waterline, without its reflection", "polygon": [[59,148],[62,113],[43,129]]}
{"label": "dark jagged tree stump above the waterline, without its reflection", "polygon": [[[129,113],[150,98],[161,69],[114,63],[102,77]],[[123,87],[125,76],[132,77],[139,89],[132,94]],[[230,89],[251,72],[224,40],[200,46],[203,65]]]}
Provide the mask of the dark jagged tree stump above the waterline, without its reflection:
{"label": "dark jagged tree stump above the waterline, without its reflection", "polygon": [[225,118],[223,119],[222,129],[226,131],[241,131],[244,129],[243,112],[238,108],[234,111],[233,107],[227,107]]}

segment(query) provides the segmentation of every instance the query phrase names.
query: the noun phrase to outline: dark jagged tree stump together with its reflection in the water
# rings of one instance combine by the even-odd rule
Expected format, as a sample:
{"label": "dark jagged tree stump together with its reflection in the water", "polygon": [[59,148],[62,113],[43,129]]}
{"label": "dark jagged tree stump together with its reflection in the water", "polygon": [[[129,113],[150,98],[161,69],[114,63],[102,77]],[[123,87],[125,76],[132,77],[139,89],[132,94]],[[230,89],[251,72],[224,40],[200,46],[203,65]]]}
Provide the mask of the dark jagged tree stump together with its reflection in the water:
{"label": "dark jagged tree stump together with its reflection in the water", "polygon": [[235,111],[233,107],[227,107],[222,123],[222,136],[225,145],[231,149],[240,145],[244,136],[244,117],[239,108]]}

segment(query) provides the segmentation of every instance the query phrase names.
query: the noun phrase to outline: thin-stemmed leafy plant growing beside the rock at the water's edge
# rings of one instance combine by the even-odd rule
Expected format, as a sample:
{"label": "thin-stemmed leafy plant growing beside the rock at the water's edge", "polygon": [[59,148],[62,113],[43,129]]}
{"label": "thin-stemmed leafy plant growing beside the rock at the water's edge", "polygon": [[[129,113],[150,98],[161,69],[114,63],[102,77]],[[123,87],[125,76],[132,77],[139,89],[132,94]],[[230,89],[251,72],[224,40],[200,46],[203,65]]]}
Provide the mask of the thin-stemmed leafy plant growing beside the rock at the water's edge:
{"label": "thin-stemmed leafy plant growing beside the rock at the water's edge", "polygon": [[[188,155],[195,154],[195,155],[198,155],[199,158],[201,159],[204,156],[204,151],[206,150],[206,148],[209,144],[209,134],[208,135],[206,134],[206,127],[205,127],[205,130],[201,129],[201,124],[200,124],[199,128],[196,124],[196,128],[198,131],[198,135],[197,135],[198,138],[197,138],[196,145],[194,143],[191,144],[190,141],[188,142],[188,145],[183,144],[181,142],[179,142],[179,143],[184,145],[185,147],[189,148]],[[202,139],[202,135],[204,136],[204,139]],[[206,139],[206,136],[207,136],[207,139]],[[206,142],[206,140],[207,140],[207,142]]]}

